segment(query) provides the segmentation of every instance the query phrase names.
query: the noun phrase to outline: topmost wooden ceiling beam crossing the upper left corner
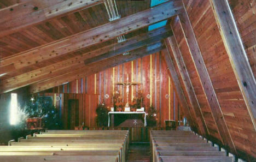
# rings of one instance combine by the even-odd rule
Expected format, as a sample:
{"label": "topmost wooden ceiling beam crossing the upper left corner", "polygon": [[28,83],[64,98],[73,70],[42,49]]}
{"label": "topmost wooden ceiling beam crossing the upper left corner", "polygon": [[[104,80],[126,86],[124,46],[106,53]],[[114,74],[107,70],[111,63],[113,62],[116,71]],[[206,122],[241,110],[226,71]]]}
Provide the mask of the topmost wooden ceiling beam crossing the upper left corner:
{"label": "topmost wooden ceiling beam crossing the upper left corner", "polygon": [[103,0],[22,0],[0,10],[2,15],[0,37],[103,2]]}

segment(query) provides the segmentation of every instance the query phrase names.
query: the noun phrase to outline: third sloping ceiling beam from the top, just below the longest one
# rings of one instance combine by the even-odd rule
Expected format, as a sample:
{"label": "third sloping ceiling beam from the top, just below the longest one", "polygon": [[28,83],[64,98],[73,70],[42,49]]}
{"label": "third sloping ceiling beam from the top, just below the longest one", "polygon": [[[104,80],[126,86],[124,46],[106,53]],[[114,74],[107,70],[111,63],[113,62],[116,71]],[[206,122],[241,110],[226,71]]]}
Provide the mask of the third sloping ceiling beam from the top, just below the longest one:
{"label": "third sloping ceiling beam from the top, just below the longest one", "polygon": [[[126,41],[123,41],[122,43],[117,43],[117,44],[113,43],[113,44],[101,47],[100,49],[80,54],[79,56],[75,55],[71,59],[66,59],[65,61],[67,63],[65,63],[65,61],[60,61],[59,63],[53,63],[53,64],[50,64],[50,65],[47,65],[44,68],[38,68],[38,70],[41,70],[39,72],[37,72],[37,69],[34,69],[33,71],[30,70],[30,67],[31,68],[34,67],[34,65],[31,65],[31,66],[28,66],[28,67],[25,67],[25,68],[21,68],[20,70],[17,70],[17,71],[12,71],[12,72],[8,73],[8,75],[3,75],[2,77],[0,75],[0,79],[2,79],[2,84],[3,83],[8,84],[10,82],[13,82],[12,79],[15,79],[16,81],[18,81],[21,78],[25,79],[25,77],[22,77],[22,74],[24,75],[25,73],[28,73],[27,77],[30,77],[30,80],[31,80],[32,78],[34,78],[34,76],[39,76],[40,74],[42,74],[44,72],[44,70],[46,70],[47,72],[53,71],[53,70],[56,70],[59,67],[67,66],[69,64],[71,65],[71,64],[74,64],[74,63],[78,63],[78,62],[81,62],[81,60],[88,59],[88,58],[91,58],[91,57],[96,57],[98,55],[102,55],[103,53],[107,53],[107,52],[110,52],[110,51],[117,51],[118,49],[124,48],[124,47],[126,47],[127,50],[131,50],[128,47],[131,44],[137,45],[137,43],[139,43],[139,41],[143,41],[143,40],[149,39],[151,37],[154,37],[154,36],[160,35],[160,34],[169,35],[170,31],[171,31],[170,26],[164,26],[164,27],[155,29],[153,31],[149,31],[147,33],[142,33],[142,34],[137,35],[135,37],[129,38]],[[76,51],[76,52],[78,52],[78,51]],[[62,56],[65,58],[67,55],[69,55],[69,53],[67,53],[65,55],[62,55]],[[51,62],[51,59],[46,60],[46,62],[48,62],[48,61]],[[52,68],[50,68],[50,67],[52,67]],[[14,65],[12,64],[7,68],[8,69],[14,68]],[[4,68],[0,68],[0,74],[2,74],[1,70],[4,70]],[[8,86],[8,85],[5,85],[5,86]]]}

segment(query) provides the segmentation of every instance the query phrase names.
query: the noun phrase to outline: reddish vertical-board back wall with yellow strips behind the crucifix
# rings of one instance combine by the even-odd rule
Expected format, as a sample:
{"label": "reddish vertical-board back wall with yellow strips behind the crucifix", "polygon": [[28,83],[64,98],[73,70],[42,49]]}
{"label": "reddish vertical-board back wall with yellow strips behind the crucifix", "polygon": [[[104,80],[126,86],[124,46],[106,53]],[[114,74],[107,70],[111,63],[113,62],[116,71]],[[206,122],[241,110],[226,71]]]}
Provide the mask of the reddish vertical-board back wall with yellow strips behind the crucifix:
{"label": "reddish vertical-board back wall with yellow strips behind the crucifix", "polygon": [[[121,96],[124,95],[123,99],[126,103],[126,89],[123,86],[116,86],[114,82],[126,81],[127,74],[129,75],[129,82],[139,82],[138,86],[130,88],[129,101],[132,97],[136,97],[136,93],[141,89],[146,109],[152,104],[158,110],[158,124],[161,127],[165,126],[165,120],[177,120],[178,116],[182,119],[181,106],[178,103],[171,76],[168,75],[168,69],[161,52],[54,87],[49,91],[98,94],[99,103],[104,102],[110,107],[113,92],[117,89],[119,89]],[[109,95],[108,99],[104,97],[105,94]],[[151,96],[149,99],[146,97],[148,94]],[[166,95],[169,97],[166,98]]]}

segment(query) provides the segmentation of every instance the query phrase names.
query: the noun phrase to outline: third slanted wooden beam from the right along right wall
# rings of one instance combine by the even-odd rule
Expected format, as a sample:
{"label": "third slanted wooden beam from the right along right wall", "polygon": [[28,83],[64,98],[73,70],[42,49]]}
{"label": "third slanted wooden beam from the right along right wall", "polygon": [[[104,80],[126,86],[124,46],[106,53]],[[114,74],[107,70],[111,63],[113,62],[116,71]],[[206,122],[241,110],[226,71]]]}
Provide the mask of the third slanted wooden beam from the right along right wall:
{"label": "third slanted wooden beam from the right along right wall", "polygon": [[205,123],[205,119],[203,118],[201,107],[197,101],[196,94],[194,91],[194,87],[191,83],[187,67],[183,61],[182,53],[179,50],[175,35],[168,37],[165,39],[166,49],[172,52],[169,52],[173,56],[173,62],[176,62],[178,71],[177,73],[181,74],[183,83],[185,85],[185,91],[188,94],[189,101],[191,104],[191,109],[194,111],[193,115],[195,115],[195,119],[199,125],[199,130],[202,135],[209,135],[209,130]]}

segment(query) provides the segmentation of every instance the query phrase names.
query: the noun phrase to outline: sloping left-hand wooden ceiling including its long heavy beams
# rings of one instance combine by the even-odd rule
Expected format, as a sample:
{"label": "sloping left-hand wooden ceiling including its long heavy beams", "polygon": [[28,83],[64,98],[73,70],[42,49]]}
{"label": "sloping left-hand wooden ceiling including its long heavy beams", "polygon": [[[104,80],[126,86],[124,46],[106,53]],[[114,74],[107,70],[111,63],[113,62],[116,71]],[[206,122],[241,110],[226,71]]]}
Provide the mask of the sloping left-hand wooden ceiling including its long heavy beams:
{"label": "sloping left-hand wooden ceiling including its long heavy beams", "polygon": [[[119,55],[145,47],[141,56],[161,50],[162,45],[154,44],[171,35],[170,26],[150,32],[148,26],[183,8],[181,1],[154,8],[150,1],[117,1],[121,17],[109,22],[102,0],[4,2],[0,3],[0,93],[24,86],[36,93],[72,81],[92,63],[108,64],[106,59],[110,62],[112,57],[121,63],[126,57]],[[120,35],[127,40],[118,43]],[[70,79],[60,80],[71,73]]]}

